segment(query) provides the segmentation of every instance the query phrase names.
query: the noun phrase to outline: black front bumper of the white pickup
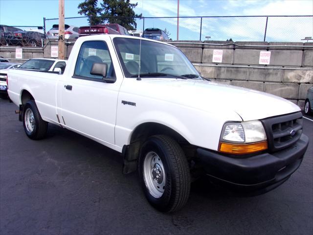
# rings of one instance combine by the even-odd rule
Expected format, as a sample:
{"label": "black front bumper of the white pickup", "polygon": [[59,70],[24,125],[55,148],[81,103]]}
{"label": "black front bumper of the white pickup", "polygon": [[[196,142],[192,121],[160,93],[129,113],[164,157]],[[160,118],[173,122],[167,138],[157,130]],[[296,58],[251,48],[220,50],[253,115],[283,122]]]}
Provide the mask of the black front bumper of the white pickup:
{"label": "black front bumper of the white pickup", "polygon": [[246,194],[262,194],[284,183],[300,166],[309,138],[301,135],[290,147],[275,153],[232,158],[198,148],[198,158],[214,182]]}

